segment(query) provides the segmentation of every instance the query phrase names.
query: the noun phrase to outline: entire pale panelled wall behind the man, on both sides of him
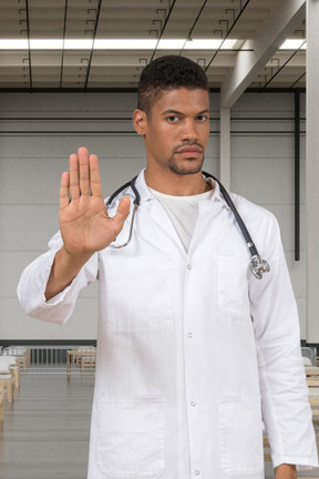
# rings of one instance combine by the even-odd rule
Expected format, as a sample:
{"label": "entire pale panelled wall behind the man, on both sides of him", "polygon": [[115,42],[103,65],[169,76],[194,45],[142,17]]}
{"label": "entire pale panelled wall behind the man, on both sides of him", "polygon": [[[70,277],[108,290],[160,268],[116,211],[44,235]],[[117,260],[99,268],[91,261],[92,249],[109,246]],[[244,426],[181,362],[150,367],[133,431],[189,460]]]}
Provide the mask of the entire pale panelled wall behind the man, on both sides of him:
{"label": "entire pale panelled wall behind the man, on both sides of him", "polygon": [[[217,105],[213,94],[214,119]],[[47,249],[59,227],[59,183],[70,153],[85,145],[97,154],[105,196],[144,166],[143,142],[131,124],[134,108],[134,93],[0,94],[0,340],[95,338],[96,285],[81,294],[63,327],[28,318],[16,288],[23,267]],[[231,190],[278,217],[306,338],[305,238],[301,261],[294,262],[294,94],[247,93],[231,118],[241,119],[231,121]],[[214,120],[205,161],[216,175],[218,128]],[[303,185],[303,142],[301,153]]]}

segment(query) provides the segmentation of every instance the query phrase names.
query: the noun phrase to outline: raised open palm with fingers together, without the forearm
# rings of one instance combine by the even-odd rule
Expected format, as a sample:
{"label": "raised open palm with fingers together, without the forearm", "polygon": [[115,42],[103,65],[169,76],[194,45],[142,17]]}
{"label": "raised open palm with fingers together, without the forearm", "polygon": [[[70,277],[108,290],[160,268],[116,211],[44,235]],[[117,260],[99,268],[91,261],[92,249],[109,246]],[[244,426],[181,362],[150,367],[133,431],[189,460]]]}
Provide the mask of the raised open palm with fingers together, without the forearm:
{"label": "raised open palm with fingers together, without the forearm", "polygon": [[[121,232],[130,213],[123,197],[114,217],[109,217],[102,195],[97,157],[85,147],[70,156],[70,173],[60,186],[60,230],[70,254],[93,254],[105,248]],[[70,194],[69,194],[70,193]]]}

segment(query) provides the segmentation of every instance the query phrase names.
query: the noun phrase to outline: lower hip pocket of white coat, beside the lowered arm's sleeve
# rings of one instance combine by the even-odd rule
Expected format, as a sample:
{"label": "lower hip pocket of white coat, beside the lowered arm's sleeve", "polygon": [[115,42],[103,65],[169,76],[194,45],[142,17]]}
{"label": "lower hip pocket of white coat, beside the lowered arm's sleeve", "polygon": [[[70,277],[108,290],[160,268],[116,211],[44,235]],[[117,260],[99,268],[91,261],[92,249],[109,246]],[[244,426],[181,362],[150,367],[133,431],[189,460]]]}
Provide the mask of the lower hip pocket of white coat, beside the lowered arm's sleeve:
{"label": "lower hip pocket of white coat, beside the lowered arm's sleeve", "polygon": [[259,479],[264,471],[260,397],[222,399],[219,402],[220,458],[231,478]]}

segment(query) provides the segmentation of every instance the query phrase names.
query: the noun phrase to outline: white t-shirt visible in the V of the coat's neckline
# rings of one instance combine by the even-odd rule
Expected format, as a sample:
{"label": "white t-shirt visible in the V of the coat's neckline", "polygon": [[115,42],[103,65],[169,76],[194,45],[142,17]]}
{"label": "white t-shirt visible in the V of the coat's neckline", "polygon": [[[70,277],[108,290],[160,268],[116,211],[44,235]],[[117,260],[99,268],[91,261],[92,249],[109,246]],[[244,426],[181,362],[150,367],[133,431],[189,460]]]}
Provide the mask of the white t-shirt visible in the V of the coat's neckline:
{"label": "white t-shirt visible in the V of the coat's neckline", "polygon": [[[150,186],[148,186],[150,187]],[[213,190],[192,196],[173,196],[160,193],[150,187],[152,194],[162,203],[168,214],[175,230],[188,252],[192,236],[198,216],[198,202],[208,200],[213,195]]]}

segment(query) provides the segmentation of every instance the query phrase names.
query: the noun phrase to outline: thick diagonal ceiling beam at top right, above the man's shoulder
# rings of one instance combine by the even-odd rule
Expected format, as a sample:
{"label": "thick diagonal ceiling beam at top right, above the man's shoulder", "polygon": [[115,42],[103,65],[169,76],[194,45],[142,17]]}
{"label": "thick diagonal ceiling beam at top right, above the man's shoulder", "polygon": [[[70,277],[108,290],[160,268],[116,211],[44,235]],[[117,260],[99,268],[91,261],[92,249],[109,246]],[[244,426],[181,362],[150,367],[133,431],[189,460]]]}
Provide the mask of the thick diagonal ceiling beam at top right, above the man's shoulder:
{"label": "thick diagonal ceiling beam at top right, above the man's shoulder", "polygon": [[306,17],[306,0],[282,0],[256,40],[247,40],[220,88],[220,108],[231,108]]}

